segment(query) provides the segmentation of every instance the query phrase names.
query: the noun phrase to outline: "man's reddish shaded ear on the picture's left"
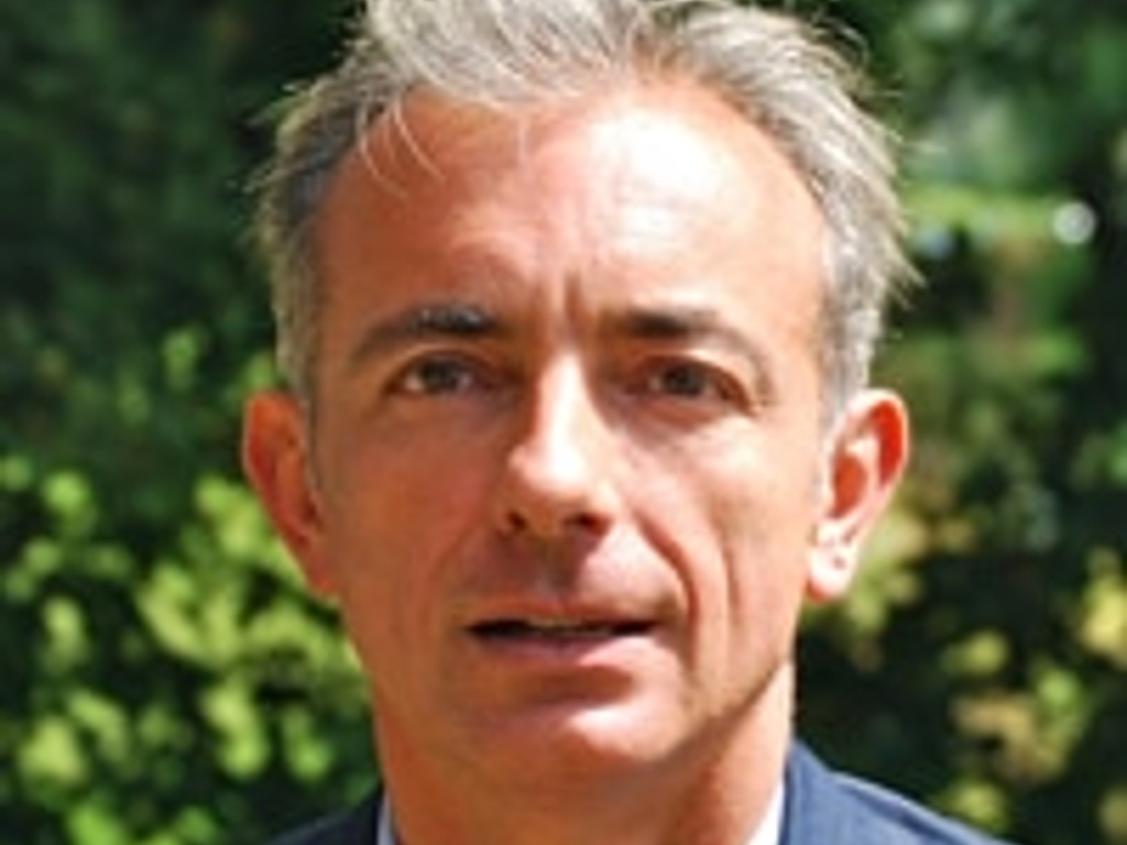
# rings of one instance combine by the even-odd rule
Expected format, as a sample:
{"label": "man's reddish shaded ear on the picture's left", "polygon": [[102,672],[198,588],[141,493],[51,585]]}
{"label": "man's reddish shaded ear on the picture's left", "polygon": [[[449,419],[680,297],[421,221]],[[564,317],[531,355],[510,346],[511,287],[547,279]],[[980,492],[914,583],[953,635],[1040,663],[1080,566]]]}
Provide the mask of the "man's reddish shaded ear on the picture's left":
{"label": "man's reddish shaded ear on the picture's left", "polygon": [[250,399],[242,420],[242,466],[305,581],[314,592],[331,595],[309,422],[295,398],[266,392]]}

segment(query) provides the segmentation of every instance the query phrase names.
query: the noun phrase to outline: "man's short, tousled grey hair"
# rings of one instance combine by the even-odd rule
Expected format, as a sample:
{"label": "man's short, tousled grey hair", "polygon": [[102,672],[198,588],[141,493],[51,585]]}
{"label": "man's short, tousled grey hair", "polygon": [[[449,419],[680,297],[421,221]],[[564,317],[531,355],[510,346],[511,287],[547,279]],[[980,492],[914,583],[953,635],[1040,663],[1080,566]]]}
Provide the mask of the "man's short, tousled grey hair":
{"label": "man's short, tousled grey hair", "polygon": [[279,368],[312,399],[314,221],[337,164],[412,90],[505,108],[640,78],[713,91],[778,144],[827,222],[819,357],[831,411],[863,386],[905,259],[891,139],[861,79],[797,19],[729,0],[369,0],[344,62],[289,104],[260,184]]}

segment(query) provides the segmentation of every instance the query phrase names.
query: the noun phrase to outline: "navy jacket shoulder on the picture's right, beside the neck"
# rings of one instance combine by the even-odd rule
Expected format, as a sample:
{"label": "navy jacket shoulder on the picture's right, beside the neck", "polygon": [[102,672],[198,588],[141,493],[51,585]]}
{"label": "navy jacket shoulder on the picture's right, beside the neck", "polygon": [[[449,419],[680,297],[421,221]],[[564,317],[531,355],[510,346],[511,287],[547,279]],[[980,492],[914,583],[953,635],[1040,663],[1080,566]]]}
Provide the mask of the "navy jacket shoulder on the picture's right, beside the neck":
{"label": "navy jacket shoulder on the picture's right, beside the neck", "polygon": [[857,777],[796,747],[787,775],[783,845],[1001,845],[985,834]]}

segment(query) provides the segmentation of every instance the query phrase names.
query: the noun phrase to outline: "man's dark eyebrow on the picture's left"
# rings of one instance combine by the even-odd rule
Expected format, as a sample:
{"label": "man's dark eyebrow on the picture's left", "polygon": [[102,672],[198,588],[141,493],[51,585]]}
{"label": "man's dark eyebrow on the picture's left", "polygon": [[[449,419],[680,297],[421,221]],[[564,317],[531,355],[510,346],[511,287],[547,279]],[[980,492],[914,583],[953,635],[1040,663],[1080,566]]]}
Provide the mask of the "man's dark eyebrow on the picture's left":
{"label": "man's dark eyebrow on the picture's left", "polygon": [[506,333],[500,320],[480,305],[440,302],[401,311],[373,322],[348,355],[350,370],[358,370],[403,345],[441,338],[491,338]]}

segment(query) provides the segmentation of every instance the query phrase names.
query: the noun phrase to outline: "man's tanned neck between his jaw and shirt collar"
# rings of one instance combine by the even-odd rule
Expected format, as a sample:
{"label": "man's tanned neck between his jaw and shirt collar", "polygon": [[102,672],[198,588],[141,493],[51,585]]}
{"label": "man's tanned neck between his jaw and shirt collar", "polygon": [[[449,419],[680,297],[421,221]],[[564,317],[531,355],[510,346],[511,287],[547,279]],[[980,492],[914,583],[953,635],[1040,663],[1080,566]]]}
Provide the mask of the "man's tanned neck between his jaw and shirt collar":
{"label": "man's tanned neck between his jaw and shirt collar", "polygon": [[561,765],[554,777],[498,777],[488,759],[427,765],[383,744],[400,843],[744,845],[782,782],[792,674],[780,671],[749,712],[630,771]]}

